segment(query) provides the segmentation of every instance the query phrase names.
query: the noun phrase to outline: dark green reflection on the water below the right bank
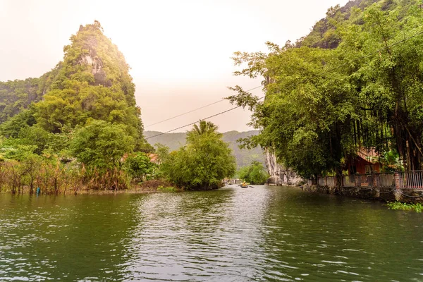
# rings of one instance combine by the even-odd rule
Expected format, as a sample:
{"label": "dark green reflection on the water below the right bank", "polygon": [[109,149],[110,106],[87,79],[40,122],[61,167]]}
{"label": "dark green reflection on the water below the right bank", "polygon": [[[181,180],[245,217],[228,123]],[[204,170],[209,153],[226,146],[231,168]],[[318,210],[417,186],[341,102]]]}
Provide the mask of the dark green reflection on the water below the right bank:
{"label": "dark green reflection on the water below the right bank", "polygon": [[[268,189],[274,194],[264,227],[263,250],[273,262],[264,270],[269,279],[420,280],[419,255],[411,255],[422,251],[415,240],[422,238],[418,214],[390,211],[379,202]],[[398,221],[398,214],[408,220]]]}

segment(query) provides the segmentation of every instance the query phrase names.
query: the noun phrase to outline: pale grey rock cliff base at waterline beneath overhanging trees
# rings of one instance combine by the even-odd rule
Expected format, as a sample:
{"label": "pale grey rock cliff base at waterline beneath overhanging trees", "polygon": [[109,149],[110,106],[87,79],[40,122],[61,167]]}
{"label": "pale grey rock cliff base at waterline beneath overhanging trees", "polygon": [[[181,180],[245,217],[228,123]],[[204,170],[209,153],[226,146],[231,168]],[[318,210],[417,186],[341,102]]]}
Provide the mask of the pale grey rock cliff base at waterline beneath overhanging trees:
{"label": "pale grey rock cliff base at waterline beneath overhanging trees", "polygon": [[303,181],[295,171],[278,164],[276,156],[266,150],[266,166],[270,174],[267,183],[273,185],[300,185]]}

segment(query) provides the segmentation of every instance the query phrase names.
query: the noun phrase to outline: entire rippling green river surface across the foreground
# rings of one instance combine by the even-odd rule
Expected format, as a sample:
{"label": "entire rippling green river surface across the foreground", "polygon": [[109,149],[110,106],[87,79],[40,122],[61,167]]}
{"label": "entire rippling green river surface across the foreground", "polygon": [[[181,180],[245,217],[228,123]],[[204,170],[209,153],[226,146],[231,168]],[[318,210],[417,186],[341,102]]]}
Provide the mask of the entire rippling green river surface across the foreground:
{"label": "entire rippling green river surface across the foreground", "polygon": [[257,186],[0,195],[0,281],[423,281],[423,215]]}

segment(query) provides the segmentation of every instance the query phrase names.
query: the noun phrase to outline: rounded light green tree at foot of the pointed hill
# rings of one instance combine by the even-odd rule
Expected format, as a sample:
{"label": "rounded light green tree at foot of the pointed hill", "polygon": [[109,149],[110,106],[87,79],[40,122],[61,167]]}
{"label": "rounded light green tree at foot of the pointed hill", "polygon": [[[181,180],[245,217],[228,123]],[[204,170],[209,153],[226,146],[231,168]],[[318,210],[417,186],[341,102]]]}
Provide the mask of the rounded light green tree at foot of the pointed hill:
{"label": "rounded light green tree at foot of the pointed hill", "polygon": [[125,125],[92,121],[76,130],[71,141],[71,154],[87,166],[100,169],[119,166],[123,154],[134,148],[133,137]]}

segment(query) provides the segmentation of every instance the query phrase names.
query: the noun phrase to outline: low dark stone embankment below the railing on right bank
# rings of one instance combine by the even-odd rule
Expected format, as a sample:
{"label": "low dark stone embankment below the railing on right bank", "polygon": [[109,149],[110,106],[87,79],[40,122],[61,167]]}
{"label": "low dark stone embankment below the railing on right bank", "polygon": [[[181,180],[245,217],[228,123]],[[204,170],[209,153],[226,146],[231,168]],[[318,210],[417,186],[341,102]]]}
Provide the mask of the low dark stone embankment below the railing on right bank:
{"label": "low dark stone embankment below the railing on right bank", "polygon": [[341,195],[366,200],[382,202],[423,203],[422,189],[401,189],[383,187],[329,187],[319,185],[304,185],[305,192],[317,192],[329,195]]}

